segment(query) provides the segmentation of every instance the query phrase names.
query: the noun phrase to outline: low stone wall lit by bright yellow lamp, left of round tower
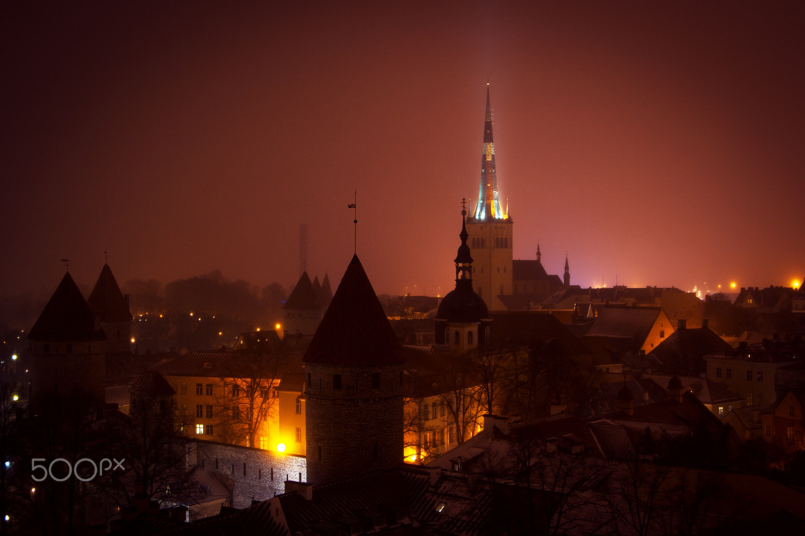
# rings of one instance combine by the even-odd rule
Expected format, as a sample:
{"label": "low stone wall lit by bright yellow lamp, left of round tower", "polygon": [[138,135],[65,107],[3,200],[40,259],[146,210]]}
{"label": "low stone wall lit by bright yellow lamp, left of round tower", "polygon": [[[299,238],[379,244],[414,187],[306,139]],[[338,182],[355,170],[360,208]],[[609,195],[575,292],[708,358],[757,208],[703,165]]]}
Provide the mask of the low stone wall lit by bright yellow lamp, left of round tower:
{"label": "low stone wall lit by bright yellow lamp, left of round tower", "polygon": [[208,441],[198,441],[196,447],[188,464],[228,477],[223,480],[229,480],[234,508],[247,508],[252,500],[265,501],[285,493],[285,480],[308,479],[304,456]]}

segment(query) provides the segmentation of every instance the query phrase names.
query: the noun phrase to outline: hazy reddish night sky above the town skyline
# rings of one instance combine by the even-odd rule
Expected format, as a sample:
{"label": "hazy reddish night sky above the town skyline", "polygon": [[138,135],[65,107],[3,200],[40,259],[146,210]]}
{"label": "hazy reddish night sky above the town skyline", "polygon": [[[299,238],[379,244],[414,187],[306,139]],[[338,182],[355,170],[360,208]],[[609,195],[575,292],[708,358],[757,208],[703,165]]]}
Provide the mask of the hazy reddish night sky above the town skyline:
{"label": "hazy reddish night sky above the town skyline", "polygon": [[0,292],[49,295],[61,258],[91,286],[105,248],[121,284],[291,286],[302,223],[335,289],[357,190],[375,291],[444,295],[487,80],[514,258],[805,276],[800,2],[230,3],[4,8]]}

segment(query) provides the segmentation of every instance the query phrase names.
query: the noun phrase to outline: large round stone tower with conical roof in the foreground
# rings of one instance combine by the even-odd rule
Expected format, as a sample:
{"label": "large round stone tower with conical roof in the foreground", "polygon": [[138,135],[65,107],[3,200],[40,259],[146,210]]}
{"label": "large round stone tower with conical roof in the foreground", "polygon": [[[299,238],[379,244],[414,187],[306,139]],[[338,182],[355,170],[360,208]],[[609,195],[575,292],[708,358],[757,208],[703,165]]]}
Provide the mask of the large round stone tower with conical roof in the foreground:
{"label": "large round stone tower with conical roof in the foreground", "polygon": [[303,361],[308,482],[403,461],[403,348],[357,255]]}

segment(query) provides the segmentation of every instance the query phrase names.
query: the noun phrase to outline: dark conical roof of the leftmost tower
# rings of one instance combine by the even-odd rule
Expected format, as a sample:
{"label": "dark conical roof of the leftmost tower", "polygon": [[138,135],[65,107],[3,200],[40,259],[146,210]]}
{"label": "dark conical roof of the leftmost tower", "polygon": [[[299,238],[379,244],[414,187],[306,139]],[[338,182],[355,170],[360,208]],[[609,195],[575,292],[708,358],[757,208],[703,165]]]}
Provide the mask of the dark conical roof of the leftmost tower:
{"label": "dark conical roof of the leftmost tower", "polygon": [[78,290],[69,272],[64,274],[39,315],[28,338],[33,340],[103,340],[104,333],[95,328],[93,311]]}

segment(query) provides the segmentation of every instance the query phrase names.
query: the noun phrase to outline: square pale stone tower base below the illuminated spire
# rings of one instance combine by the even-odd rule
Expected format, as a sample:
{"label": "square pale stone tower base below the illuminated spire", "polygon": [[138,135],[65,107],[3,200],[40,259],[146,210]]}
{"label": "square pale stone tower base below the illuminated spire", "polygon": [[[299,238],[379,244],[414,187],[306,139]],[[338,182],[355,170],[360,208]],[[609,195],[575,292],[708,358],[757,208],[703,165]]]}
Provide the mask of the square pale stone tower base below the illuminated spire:
{"label": "square pale stone tower base below the illuminated spire", "polygon": [[[466,226],[467,244],[473,256],[473,289],[484,299],[489,311],[505,311],[497,295],[512,294],[514,225],[510,220],[493,220],[467,221]],[[478,245],[481,240],[483,247]]]}

